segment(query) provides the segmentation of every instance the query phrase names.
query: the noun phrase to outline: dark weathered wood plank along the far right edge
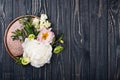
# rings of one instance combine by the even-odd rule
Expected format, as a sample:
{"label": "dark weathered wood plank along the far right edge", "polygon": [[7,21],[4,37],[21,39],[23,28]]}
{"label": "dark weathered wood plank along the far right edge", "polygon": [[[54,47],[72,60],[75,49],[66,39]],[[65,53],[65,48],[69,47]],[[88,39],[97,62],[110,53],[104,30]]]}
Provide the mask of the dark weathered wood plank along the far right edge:
{"label": "dark weathered wood plank along the far right edge", "polygon": [[120,1],[110,0],[108,8],[108,79],[120,79]]}

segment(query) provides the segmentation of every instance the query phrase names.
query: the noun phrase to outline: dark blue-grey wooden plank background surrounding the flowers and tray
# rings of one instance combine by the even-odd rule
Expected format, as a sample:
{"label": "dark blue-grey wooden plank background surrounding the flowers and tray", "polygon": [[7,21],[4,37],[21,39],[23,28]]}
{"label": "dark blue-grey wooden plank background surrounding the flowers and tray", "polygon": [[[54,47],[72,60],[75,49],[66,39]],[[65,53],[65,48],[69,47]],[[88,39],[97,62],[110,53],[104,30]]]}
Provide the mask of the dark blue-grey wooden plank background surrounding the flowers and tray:
{"label": "dark blue-grey wooden plank background surrounding the flowers and tray", "polygon": [[[42,68],[19,66],[5,50],[5,29],[40,13],[66,48]],[[0,80],[120,80],[120,0],[0,0]]]}

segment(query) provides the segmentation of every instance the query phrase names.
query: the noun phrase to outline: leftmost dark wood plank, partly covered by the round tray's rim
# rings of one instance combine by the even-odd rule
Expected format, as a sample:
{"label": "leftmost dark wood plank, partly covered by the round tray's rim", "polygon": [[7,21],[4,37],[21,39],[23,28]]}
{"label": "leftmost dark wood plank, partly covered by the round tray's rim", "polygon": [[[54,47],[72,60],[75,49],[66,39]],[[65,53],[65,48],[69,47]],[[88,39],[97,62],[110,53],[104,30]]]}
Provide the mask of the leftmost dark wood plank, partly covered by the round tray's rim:
{"label": "leftmost dark wood plank, partly covered by the round tray's rim", "polygon": [[[1,0],[3,1],[2,5],[3,5],[3,15],[1,16],[3,25],[2,25],[2,34],[4,34],[4,31],[7,27],[7,25],[10,23],[10,21],[12,20],[12,2],[9,0]],[[2,35],[2,39],[0,41],[2,41],[3,43],[3,37],[4,35]],[[2,45],[3,46],[3,45]],[[14,75],[13,75],[13,60],[10,58],[10,56],[7,54],[7,52],[5,51],[5,48],[3,48],[2,50],[3,56],[2,56],[2,79],[3,80],[8,80],[8,79],[14,79]]]}

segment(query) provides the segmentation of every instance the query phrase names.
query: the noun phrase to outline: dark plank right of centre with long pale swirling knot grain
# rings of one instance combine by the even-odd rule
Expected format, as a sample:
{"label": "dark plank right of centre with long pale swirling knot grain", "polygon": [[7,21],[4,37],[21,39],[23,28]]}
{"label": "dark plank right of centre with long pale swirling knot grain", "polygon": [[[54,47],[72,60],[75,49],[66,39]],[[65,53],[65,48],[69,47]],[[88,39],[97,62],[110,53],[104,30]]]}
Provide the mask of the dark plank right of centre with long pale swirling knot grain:
{"label": "dark plank right of centre with long pale swirling knot grain", "polygon": [[71,0],[72,80],[89,80],[89,5],[88,0]]}

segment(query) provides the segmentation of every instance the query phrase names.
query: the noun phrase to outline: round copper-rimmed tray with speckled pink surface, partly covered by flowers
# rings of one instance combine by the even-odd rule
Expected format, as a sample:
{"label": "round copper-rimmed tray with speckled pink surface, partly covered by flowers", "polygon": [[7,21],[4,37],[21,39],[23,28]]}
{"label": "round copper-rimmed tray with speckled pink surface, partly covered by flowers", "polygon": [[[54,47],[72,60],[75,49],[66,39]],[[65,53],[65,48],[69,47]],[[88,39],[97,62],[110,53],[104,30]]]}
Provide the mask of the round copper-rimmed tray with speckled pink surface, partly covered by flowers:
{"label": "round copper-rimmed tray with speckled pink surface, partly covered by flowers", "polygon": [[[34,15],[25,15],[25,16],[32,16],[33,18],[37,17]],[[21,24],[19,23],[19,19],[23,18],[24,16],[20,16],[15,18],[7,27],[4,35],[4,45],[8,52],[8,54],[16,60],[16,57],[23,53],[22,45],[19,40],[12,40],[12,32],[16,29],[20,29]]]}

